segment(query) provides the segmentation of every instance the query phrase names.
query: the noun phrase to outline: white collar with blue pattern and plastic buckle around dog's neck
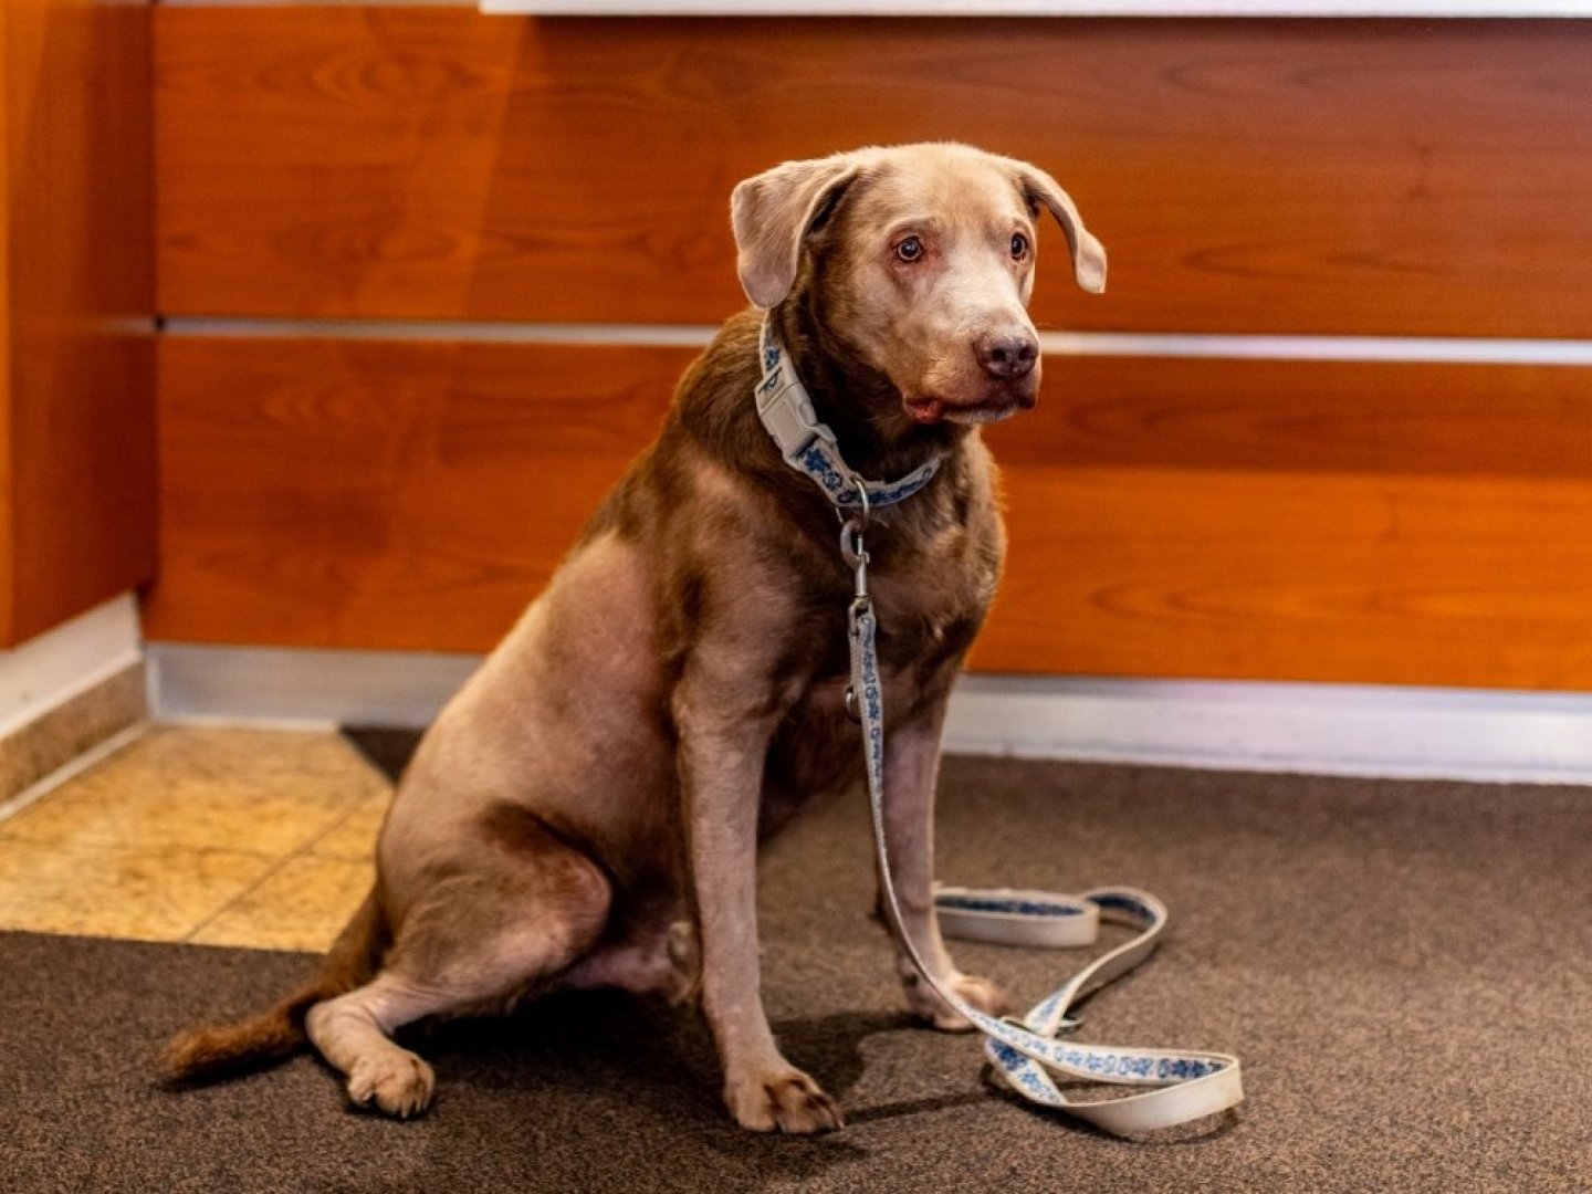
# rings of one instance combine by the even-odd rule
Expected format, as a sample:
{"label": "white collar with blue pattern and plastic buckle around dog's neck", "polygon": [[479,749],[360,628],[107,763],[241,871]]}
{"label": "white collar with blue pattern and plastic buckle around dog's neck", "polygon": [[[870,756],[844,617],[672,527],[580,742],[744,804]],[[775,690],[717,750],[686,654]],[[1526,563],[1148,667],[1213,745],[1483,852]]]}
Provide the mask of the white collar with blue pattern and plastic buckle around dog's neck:
{"label": "white collar with blue pattern and plastic buckle around dog's neck", "polygon": [[763,379],[753,395],[758,417],[785,457],[785,463],[806,473],[828,494],[839,509],[890,506],[917,494],[939,470],[941,457],[931,457],[896,481],[864,481],[856,474],[834,439],[828,423],[820,423],[812,409],[812,396],[801,384],[769,322],[763,320],[758,336]]}

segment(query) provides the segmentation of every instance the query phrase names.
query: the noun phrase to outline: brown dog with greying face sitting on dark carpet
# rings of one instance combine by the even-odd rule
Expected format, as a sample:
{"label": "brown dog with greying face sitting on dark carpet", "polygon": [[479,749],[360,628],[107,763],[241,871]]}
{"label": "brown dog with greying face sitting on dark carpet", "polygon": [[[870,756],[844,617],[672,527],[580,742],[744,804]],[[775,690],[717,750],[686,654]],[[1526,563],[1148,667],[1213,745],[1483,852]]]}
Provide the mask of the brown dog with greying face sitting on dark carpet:
{"label": "brown dog with greying face sitting on dark carpet", "polygon": [[[307,1036],[353,1103],[411,1116],[433,1071],[392,1040],[400,1027],[619,987],[700,1003],[739,1124],[841,1127],[769,1028],[755,869],[763,837],[863,774],[837,543],[861,478],[919,486],[893,505],[876,489],[868,511],[901,930],[936,979],[1000,1009],[941,941],[931,815],[947,696],[1005,552],[977,428],[1038,396],[1043,212],[1076,283],[1103,290],[1105,250],[1073,201],[1011,158],[864,148],[740,183],[731,224],[753,307],[688,368],[656,441],[423,736],[374,888],[322,973],[267,1013],[178,1036],[167,1076],[263,1065]],[[821,478],[759,419],[796,377],[786,414],[831,452]],[[899,946],[898,968],[917,1016],[968,1027]]]}

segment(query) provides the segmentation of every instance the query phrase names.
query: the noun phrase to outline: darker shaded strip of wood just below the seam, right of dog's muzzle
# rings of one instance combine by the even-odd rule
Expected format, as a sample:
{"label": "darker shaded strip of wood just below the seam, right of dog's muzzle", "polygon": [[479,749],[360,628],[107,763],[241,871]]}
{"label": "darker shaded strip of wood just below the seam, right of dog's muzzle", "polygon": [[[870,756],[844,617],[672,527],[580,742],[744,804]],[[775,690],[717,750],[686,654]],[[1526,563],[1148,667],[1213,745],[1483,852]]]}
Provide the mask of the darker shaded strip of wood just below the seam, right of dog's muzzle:
{"label": "darker shaded strip of wood just below the seam, right of dog's muzzle", "polygon": [[1006,465],[1592,481],[1592,369],[1049,357],[1040,414],[987,436]]}

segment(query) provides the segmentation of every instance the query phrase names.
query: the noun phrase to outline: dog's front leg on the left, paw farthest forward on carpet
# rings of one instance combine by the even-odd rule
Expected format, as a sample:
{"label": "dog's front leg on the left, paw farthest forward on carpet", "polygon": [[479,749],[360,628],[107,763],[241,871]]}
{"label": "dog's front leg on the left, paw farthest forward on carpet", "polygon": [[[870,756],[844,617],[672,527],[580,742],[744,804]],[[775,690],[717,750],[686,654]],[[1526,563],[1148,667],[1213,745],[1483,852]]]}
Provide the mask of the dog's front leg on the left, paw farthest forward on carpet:
{"label": "dog's front leg on the left, paw farthest forward on carpet", "polygon": [[[685,826],[702,952],[702,1011],[742,1127],[821,1132],[841,1111],[780,1054],[758,965],[758,804],[775,716],[734,685],[688,675],[675,699]],[[756,705],[758,702],[751,702]]]}

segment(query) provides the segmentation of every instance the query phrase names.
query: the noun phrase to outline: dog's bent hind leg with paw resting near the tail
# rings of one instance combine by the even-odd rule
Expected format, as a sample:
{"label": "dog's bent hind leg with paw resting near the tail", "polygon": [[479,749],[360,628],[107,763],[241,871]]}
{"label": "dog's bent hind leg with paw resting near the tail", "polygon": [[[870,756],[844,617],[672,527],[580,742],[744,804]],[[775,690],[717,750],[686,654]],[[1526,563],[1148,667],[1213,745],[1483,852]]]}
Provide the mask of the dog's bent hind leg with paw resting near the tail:
{"label": "dog's bent hind leg with paw resting near the tail", "polygon": [[611,887],[586,855],[546,831],[522,836],[513,855],[482,855],[408,909],[371,982],[309,1009],[309,1038],[345,1075],[353,1103],[398,1118],[423,1111],[431,1067],[392,1033],[427,1016],[505,1008],[602,935]]}

